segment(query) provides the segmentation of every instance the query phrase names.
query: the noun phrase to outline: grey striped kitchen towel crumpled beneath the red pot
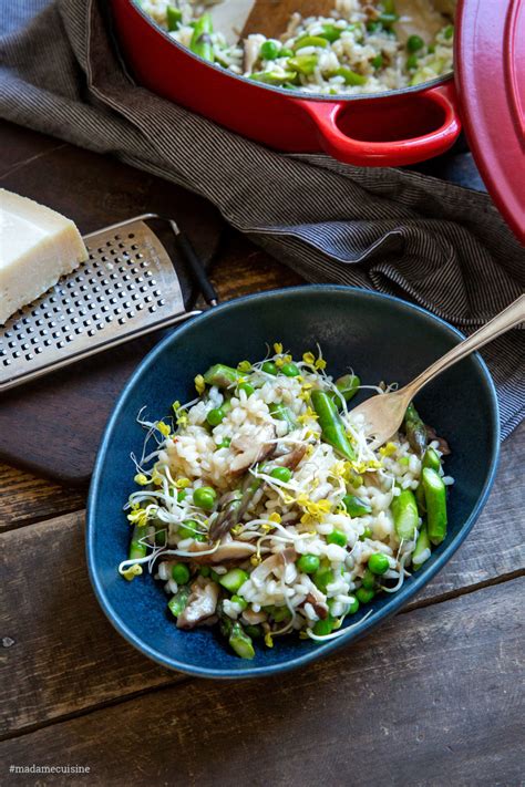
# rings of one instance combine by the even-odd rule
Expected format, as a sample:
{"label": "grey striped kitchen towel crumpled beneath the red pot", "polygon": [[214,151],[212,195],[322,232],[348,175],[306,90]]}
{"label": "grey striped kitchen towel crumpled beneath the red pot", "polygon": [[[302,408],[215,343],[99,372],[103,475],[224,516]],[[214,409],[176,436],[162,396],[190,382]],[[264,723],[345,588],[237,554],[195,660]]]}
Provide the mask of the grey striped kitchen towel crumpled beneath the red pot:
{"label": "grey striped kitchen towel crumpled beneath the red pot", "polygon": [[[465,333],[523,292],[524,250],[485,194],[409,170],[279,154],[158,99],[123,68],[104,7],[0,3],[2,117],[203,195],[310,281],[401,296]],[[483,351],[504,436],[524,416],[524,350],[515,330]]]}

